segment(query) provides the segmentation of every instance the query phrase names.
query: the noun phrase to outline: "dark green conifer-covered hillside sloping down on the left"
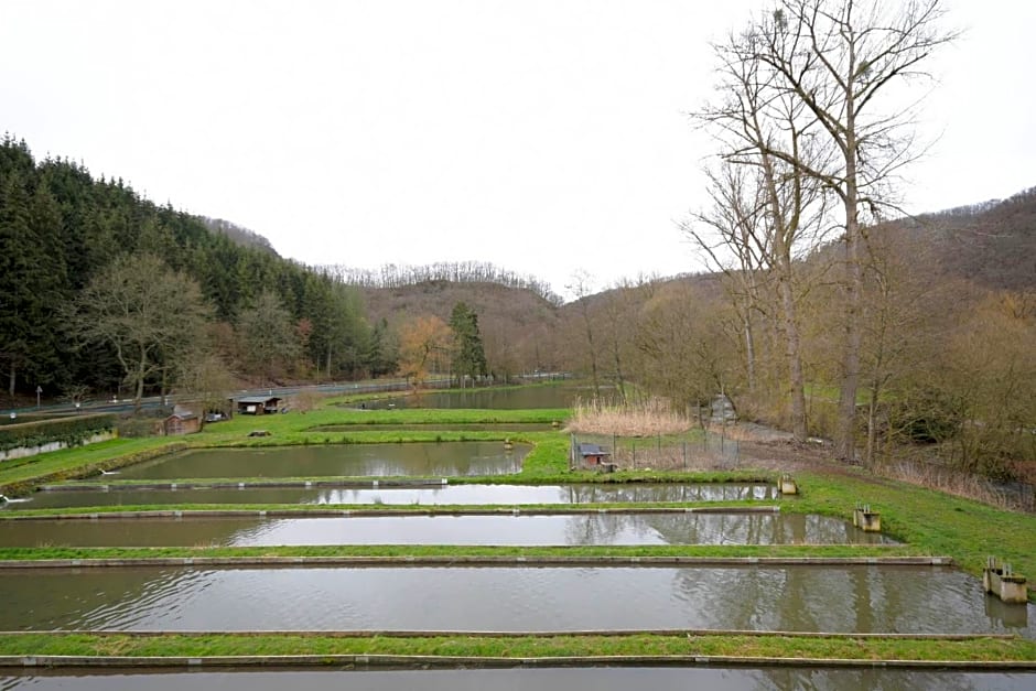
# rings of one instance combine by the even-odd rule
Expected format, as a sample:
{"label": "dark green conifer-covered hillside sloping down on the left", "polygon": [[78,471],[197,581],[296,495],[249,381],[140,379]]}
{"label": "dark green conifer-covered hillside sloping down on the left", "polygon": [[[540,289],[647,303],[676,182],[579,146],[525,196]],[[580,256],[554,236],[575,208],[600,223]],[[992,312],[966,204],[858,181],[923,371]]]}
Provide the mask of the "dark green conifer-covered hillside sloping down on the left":
{"label": "dark green conifer-covered hillside sloping down on the left", "polygon": [[[217,228],[213,231],[211,228]],[[0,142],[8,397],[226,389],[385,374],[358,292],[255,234]]]}

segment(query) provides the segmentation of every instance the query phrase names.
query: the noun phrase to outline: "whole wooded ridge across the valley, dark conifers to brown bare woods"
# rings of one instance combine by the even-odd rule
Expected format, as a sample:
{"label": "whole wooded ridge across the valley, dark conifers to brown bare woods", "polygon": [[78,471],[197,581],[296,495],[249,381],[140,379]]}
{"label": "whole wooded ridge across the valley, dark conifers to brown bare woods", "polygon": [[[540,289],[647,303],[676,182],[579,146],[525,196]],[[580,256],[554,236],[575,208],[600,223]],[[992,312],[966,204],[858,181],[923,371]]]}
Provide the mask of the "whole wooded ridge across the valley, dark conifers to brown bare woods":
{"label": "whole wooded ridge across the valley, dark conifers to brown bare woods", "polygon": [[[158,206],[67,160],[36,162],[11,137],[0,142],[0,241],[10,402],[37,386],[73,399],[219,398],[241,384],[382,375],[420,384],[429,371],[460,373],[463,331],[484,348],[473,376],[564,369],[678,407],[724,391],[745,417],[787,420],[780,307],[762,270],[748,277],[758,289],[748,344],[746,277],[729,267],[603,290],[586,281],[566,304],[535,278],[477,261],[306,267],[230,222]],[[952,438],[959,463],[1016,475],[1036,456],[1036,438],[1023,433],[1036,427],[1036,188],[885,222],[866,241],[870,398],[859,403],[868,443]],[[839,242],[795,259],[809,428],[820,435],[839,371]],[[111,316],[114,295],[158,303],[137,304],[141,316],[123,323]]]}

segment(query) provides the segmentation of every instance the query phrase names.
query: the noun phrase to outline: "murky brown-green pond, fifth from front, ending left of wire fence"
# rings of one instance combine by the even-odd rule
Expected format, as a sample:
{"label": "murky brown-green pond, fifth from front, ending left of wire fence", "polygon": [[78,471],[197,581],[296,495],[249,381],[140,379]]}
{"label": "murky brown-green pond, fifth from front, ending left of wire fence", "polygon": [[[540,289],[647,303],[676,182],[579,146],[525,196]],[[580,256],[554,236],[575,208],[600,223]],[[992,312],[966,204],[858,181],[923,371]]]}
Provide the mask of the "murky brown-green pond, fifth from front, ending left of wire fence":
{"label": "murky brown-green pond, fifth from front, ending left of wire fence", "polygon": [[119,471],[122,479],[203,477],[324,477],[509,475],[521,469],[529,444],[501,442],[341,444],[199,449]]}

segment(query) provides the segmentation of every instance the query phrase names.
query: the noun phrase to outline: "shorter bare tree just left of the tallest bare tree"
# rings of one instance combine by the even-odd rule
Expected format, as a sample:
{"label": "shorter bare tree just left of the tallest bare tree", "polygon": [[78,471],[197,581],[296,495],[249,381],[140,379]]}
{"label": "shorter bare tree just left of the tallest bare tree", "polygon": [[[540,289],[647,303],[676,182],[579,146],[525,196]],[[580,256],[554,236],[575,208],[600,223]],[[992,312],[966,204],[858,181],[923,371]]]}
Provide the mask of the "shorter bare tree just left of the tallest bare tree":
{"label": "shorter bare tree just left of the tallest bare tree", "polygon": [[791,429],[797,440],[805,441],[808,428],[795,259],[803,247],[808,250],[823,239],[827,196],[820,181],[771,150],[788,151],[813,168],[823,165],[825,152],[813,144],[811,112],[794,94],[776,88],[776,75],[765,64],[746,58],[756,51],[756,41],[749,32],[716,47],[722,100],[698,114],[698,119],[722,141],[723,163],[710,175],[713,209],[698,216],[711,233],[706,236],[693,228],[688,233],[713,260],[717,257],[709,246],[710,237],[719,237],[737,258],[740,270],[727,274],[738,279],[747,296],[742,312],[753,384],[751,317],[764,304],[759,298],[763,284],[776,293]]}

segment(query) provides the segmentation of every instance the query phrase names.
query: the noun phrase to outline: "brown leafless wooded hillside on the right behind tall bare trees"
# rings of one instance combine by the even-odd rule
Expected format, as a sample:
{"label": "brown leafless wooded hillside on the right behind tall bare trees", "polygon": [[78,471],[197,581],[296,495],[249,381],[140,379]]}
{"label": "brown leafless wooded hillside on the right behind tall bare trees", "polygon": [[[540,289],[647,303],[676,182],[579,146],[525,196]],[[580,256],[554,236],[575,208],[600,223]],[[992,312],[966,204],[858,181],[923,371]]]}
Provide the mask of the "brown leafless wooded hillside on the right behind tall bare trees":
{"label": "brown leafless wooded hillside on the right behind tall bare trees", "polygon": [[[995,476],[1036,476],[1036,194],[866,229],[861,456],[903,445]],[[790,272],[808,434],[834,431],[841,240]],[[624,283],[565,305],[569,366],[694,410],[719,391],[743,418],[790,429],[778,277],[736,261],[711,274]],[[643,390],[643,389],[641,389]]]}

